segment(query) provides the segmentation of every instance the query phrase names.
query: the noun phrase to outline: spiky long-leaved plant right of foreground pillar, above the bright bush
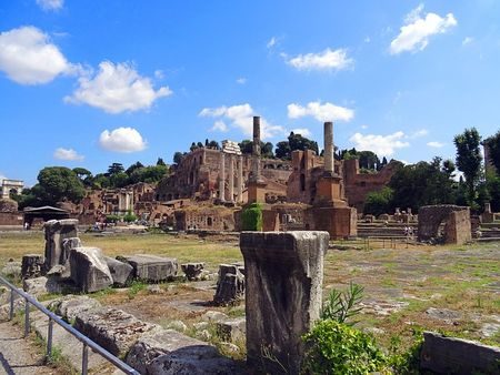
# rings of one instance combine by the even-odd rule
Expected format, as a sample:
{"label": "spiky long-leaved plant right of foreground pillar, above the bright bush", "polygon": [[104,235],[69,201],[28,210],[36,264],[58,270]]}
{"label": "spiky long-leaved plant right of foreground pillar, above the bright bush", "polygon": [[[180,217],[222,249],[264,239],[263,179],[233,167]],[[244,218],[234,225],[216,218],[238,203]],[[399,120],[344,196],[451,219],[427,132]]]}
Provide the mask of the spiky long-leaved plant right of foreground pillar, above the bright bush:
{"label": "spiky long-leaved plant right of foreground pillar, above the bright bush", "polygon": [[360,313],[362,307],[359,303],[362,300],[364,287],[350,283],[347,292],[332,290],[324,302],[320,313],[321,320],[333,320],[347,325],[353,325],[357,322],[347,322],[352,316]]}

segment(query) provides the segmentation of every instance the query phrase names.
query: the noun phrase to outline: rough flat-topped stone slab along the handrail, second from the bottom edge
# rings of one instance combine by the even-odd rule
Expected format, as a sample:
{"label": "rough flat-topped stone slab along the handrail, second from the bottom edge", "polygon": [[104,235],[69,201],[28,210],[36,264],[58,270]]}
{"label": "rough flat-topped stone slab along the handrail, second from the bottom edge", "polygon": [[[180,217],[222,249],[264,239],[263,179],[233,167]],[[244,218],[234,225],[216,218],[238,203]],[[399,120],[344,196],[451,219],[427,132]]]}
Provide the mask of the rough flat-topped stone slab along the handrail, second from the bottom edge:
{"label": "rough flat-topped stone slab along the handrail, second from the bottom edge", "polygon": [[126,355],[144,334],[161,330],[121,310],[93,308],[76,316],[74,327],[116,356]]}

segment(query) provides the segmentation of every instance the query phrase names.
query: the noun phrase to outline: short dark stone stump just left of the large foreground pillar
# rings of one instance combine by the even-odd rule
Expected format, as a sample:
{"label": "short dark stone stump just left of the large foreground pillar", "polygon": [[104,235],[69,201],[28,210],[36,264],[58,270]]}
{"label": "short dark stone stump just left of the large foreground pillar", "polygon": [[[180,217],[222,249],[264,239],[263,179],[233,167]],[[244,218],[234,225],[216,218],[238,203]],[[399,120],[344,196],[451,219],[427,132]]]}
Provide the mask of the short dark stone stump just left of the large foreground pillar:
{"label": "short dark stone stump just left of the large foreground pillar", "polygon": [[243,298],[244,276],[238,265],[220,264],[219,281],[213,296],[216,305],[230,305]]}

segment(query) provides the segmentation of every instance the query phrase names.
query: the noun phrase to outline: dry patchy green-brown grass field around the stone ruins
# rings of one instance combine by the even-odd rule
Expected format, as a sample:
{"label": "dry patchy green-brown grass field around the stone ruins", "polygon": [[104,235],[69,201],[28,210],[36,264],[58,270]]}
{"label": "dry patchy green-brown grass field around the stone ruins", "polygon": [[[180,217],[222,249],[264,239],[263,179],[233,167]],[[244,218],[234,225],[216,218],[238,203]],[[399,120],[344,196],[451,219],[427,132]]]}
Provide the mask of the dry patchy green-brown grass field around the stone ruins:
{"label": "dry patchy green-brown grass field around the stone ruins", "polygon": [[[207,241],[166,234],[80,237],[86,246],[100,247],[109,256],[151,253],[177,257],[180,263],[206,262],[211,271],[217,271],[220,263],[242,260],[236,237]],[[0,233],[0,265],[27,253],[43,253],[41,232]],[[364,307],[358,326],[371,331],[387,348],[408,347],[413,332],[421,330],[500,345],[500,243],[408,249],[401,244],[397,249],[329,251],[324,294],[331,288],[347,288],[350,282],[364,287]],[[108,291],[94,296],[104,304],[163,325],[176,318],[196,323],[203,310],[190,310],[190,303],[197,301],[202,305],[213,296],[212,290],[189,285],[162,285],[162,288],[164,293],[160,295],[137,287],[133,293]],[[241,306],[218,310],[231,315],[243,312]]]}

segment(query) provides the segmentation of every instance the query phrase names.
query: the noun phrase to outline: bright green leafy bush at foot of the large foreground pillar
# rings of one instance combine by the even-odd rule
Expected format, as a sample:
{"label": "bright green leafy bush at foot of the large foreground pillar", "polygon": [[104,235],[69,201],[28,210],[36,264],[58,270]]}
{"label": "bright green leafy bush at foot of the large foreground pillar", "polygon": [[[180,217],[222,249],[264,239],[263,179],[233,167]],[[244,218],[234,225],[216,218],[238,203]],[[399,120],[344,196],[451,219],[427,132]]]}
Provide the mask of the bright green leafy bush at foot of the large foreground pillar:
{"label": "bright green leafy bush at foot of the large foreground pillar", "polygon": [[320,321],[304,342],[306,374],[357,375],[388,369],[388,359],[371,336],[337,321]]}

